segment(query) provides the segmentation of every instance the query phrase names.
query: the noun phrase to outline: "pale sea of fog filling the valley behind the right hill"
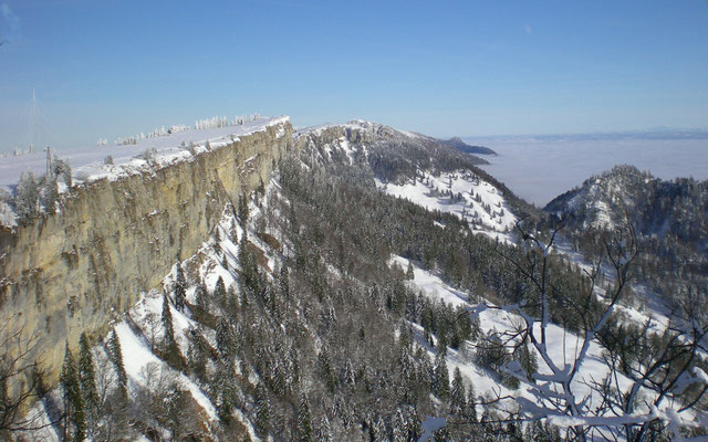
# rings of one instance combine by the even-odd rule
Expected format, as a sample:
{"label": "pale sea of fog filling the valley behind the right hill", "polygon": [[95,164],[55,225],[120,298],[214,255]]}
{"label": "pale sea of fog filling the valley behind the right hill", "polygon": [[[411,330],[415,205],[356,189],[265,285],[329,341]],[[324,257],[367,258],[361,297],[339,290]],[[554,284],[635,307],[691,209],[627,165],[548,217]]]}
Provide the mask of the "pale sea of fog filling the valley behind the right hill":
{"label": "pale sea of fog filling the valley behind the right hill", "polygon": [[708,137],[481,137],[465,138],[498,156],[482,156],[483,169],[538,207],[615,165],[633,165],[673,179],[708,179]]}

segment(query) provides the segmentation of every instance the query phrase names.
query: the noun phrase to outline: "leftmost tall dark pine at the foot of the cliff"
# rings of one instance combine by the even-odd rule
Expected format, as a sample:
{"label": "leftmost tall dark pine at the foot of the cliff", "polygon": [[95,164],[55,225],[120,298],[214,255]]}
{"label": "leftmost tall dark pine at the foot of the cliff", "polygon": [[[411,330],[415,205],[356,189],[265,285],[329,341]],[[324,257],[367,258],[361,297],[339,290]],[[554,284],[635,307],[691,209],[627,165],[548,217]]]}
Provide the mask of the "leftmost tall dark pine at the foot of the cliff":
{"label": "leftmost tall dark pine at the foot of the cliff", "polygon": [[66,344],[64,364],[60,376],[62,396],[64,400],[64,440],[83,442],[86,435],[86,422],[84,415],[84,401],[81,396],[81,386],[76,372],[74,357]]}

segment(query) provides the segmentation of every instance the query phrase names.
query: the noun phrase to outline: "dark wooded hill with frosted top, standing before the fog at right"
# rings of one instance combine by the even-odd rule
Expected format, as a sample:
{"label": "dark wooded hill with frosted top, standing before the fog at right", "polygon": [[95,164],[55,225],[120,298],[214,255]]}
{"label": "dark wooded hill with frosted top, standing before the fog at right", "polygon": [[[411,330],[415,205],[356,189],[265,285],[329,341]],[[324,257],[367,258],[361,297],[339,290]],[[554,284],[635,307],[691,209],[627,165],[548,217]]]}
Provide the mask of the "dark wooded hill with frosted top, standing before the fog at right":
{"label": "dark wooded hill with frosted top, standing before the fog at right", "polygon": [[666,301],[708,284],[708,180],[666,181],[615,166],[544,210],[565,220],[565,234],[581,250],[591,250],[603,232],[632,224],[641,250],[637,281]]}

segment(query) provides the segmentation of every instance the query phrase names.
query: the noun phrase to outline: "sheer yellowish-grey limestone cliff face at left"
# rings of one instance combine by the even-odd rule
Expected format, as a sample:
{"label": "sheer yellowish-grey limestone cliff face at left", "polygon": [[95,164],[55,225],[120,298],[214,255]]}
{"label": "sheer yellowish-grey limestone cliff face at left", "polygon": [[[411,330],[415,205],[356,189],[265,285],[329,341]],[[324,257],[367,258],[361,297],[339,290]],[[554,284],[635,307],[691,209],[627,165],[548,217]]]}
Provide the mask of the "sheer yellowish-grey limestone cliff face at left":
{"label": "sheer yellowish-grey limestone cliff face at left", "polygon": [[149,175],[72,189],[61,213],[0,232],[0,322],[39,338],[33,357],[55,383],[65,340],[104,334],[292,148],[282,122]]}

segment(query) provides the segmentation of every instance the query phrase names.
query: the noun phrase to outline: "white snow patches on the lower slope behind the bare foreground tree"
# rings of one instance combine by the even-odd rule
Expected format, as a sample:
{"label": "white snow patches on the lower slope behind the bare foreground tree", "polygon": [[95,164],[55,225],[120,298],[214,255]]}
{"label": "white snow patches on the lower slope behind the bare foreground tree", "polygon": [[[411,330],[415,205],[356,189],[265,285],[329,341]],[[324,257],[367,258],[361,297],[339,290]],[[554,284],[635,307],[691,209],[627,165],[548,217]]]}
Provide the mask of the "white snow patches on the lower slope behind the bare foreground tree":
{"label": "white snow patches on the lower slope behind the bare foreground tree", "polygon": [[[392,256],[389,265],[399,265],[403,269],[408,266],[408,260],[400,256]],[[523,317],[517,312],[518,306],[498,307],[488,302],[473,304],[468,301],[470,297],[465,293],[457,291],[445,284],[438,276],[433,273],[419,269],[414,265],[414,278],[408,282],[415,288],[418,288],[431,299],[444,302],[454,307],[466,307],[470,312],[471,317],[479,319],[479,326],[482,334],[489,334],[492,330],[503,334],[513,334],[519,325],[523,325]],[[655,312],[656,313],[656,312]],[[414,336],[418,345],[426,348],[430,356],[434,350],[428,346],[424,338],[424,330],[417,324],[412,324]],[[540,335],[541,323],[534,324],[537,336]],[[498,375],[492,373],[478,367],[473,360],[473,348],[469,343],[460,346],[459,350],[448,349],[447,362],[450,372],[455,368],[459,368],[464,378],[471,382],[478,396],[507,397],[499,402],[501,409],[512,410],[514,404],[521,408],[522,413],[539,415],[556,425],[566,427],[575,424],[608,424],[620,425],[623,422],[637,422],[650,419],[652,417],[660,417],[668,419],[669,414],[675,413],[673,403],[666,403],[662,410],[652,410],[648,407],[639,406],[636,415],[627,417],[618,410],[607,411],[601,415],[594,414],[592,410],[597,409],[602,403],[602,398],[591,386],[594,382],[602,382],[610,373],[610,367],[603,358],[603,349],[596,341],[591,341],[586,349],[586,357],[580,358],[581,364],[577,367],[577,375],[572,380],[571,391],[573,400],[584,410],[584,415],[577,418],[566,417],[560,410],[552,407],[550,398],[565,398],[564,391],[560,390],[560,383],[568,379],[569,373],[573,369],[573,364],[579,359],[579,354],[583,347],[581,336],[569,333],[563,327],[555,324],[548,324],[545,329],[546,346],[545,352],[549,360],[554,366],[553,370],[541,355],[533,349],[539,362],[538,373],[533,375],[537,385],[522,381],[518,390],[509,390],[500,385]],[[517,365],[518,366],[518,365]],[[518,367],[517,367],[518,368]],[[503,371],[513,372],[514,366],[502,368]],[[708,381],[708,375],[702,370],[694,370],[690,377],[684,379],[685,383],[701,380]],[[628,391],[632,386],[631,381],[622,373],[615,373],[613,385],[623,391]],[[645,390],[643,390],[646,393]],[[539,396],[543,401],[539,401]],[[616,413],[615,413],[616,412]],[[617,417],[617,415],[621,417]],[[689,424],[691,412],[681,412],[676,414],[676,419],[681,424]],[[441,423],[441,421],[430,421]],[[433,423],[430,423],[433,425]],[[425,439],[423,439],[425,440]]]}

